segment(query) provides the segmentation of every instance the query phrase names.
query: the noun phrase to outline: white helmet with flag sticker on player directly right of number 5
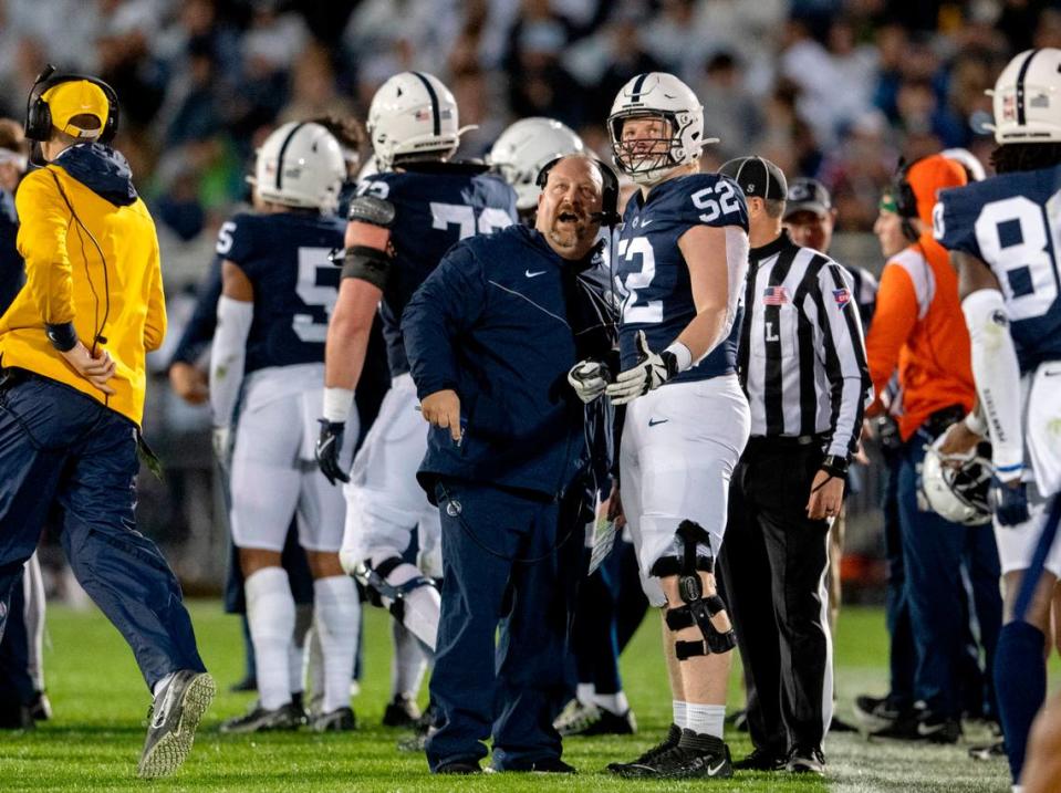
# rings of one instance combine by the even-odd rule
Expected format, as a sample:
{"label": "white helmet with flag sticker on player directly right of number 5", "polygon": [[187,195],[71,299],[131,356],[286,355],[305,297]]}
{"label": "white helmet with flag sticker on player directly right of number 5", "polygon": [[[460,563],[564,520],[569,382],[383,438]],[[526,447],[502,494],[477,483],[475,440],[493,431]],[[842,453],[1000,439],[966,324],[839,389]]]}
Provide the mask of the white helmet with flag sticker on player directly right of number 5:
{"label": "white helmet with flag sticker on player directly right of number 5", "polygon": [[[457,150],[457,101],[427,72],[402,72],[379,86],[368,107],[368,139],[381,170],[396,159],[445,159]],[[470,127],[466,127],[470,128]]]}

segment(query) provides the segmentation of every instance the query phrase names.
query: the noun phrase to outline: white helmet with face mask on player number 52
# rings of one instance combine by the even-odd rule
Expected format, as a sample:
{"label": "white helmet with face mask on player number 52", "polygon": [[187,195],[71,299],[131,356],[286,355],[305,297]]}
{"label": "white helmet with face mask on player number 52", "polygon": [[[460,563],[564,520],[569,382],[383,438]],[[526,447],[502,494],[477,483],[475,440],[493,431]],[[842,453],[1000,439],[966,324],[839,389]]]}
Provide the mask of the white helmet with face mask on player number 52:
{"label": "white helmet with face mask on player number 52", "polygon": [[[627,118],[663,117],[670,125],[670,137],[652,142],[647,153],[638,153],[623,143],[623,122]],[[622,87],[607,117],[615,165],[638,185],[654,185],[674,168],[700,156],[704,139],[704,106],[693,90],[673,74],[638,74]],[[644,139],[639,143],[644,144]],[[666,144],[667,150],[659,150]]]}

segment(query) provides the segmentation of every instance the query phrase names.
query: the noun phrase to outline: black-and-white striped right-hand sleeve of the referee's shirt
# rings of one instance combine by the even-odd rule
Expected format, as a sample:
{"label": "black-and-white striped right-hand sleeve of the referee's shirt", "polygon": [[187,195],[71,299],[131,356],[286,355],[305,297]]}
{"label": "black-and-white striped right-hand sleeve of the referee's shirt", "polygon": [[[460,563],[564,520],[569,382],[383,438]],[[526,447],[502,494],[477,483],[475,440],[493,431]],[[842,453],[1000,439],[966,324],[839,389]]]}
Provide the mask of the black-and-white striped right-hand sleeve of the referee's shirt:
{"label": "black-and-white striped right-hand sleeve of the referee's shirt", "polygon": [[814,294],[832,397],[832,440],[826,453],[844,459],[850,459],[859,448],[862,417],[873,395],[853,289],[851,276],[833,263],[819,272]]}

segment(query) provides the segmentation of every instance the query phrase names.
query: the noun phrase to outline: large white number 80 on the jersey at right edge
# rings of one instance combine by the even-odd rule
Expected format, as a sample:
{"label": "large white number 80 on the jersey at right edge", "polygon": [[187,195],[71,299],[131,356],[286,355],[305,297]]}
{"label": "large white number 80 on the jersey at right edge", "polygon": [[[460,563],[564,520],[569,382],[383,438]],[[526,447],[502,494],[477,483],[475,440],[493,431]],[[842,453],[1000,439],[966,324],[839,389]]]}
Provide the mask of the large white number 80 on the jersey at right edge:
{"label": "large white number 80 on the jersey at right edge", "polygon": [[[976,219],[976,241],[984,259],[995,263],[996,272],[1005,268],[999,282],[1010,320],[1042,316],[1058,296],[1058,263],[1050,254],[1050,242],[1057,255],[1061,251],[1059,212],[1061,191],[1047,201],[1046,215],[1034,201],[1013,196],[986,204]],[[1047,216],[1052,220],[1050,226]]]}

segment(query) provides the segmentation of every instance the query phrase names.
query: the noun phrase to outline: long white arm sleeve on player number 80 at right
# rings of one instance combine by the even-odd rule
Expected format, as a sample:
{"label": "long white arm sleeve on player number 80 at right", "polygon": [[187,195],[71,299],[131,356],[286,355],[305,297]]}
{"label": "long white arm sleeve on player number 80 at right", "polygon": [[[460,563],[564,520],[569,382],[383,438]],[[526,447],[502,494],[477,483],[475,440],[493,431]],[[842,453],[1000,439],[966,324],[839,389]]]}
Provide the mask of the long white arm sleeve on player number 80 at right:
{"label": "long white arm sleeve on player number 80 at right", "polygon": [[1020,420],[1020,366],[1002,293],[979,289],[961,301],[972,347],[972,378],[991,435],[991,462],[1002,480],[1020,476],[1024,436]]}

